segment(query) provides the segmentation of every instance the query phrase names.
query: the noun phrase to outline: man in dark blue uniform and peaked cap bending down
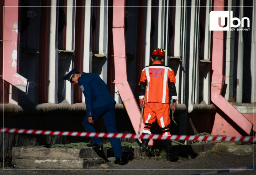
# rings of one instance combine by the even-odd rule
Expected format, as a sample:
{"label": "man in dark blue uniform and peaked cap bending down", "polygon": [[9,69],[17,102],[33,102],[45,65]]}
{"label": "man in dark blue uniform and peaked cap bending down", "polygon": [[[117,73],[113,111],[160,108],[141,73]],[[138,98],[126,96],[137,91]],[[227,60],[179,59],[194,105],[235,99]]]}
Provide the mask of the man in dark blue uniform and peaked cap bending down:
{"label": "man in dark blue uniform and peaked cap bending down", "polygon": [[[78,84],[85,97],[86,114],[82,124],[87,132],[96,132],[94,122],[102,117],[108,133],[117,133],[116,128],[116,101],[109,93],[108,86],[105,82],[94,73],[80,73],[74,68],[62,79],[71,83]],[[98,150],[103,149],[103,144],[99,137],[90,137],[92,144],[87,144]],[[122,156],[121,140],[118,138],[110,138],[110,143],[114,151],[116,160],[114,163],[124,165],[127,160]]]}

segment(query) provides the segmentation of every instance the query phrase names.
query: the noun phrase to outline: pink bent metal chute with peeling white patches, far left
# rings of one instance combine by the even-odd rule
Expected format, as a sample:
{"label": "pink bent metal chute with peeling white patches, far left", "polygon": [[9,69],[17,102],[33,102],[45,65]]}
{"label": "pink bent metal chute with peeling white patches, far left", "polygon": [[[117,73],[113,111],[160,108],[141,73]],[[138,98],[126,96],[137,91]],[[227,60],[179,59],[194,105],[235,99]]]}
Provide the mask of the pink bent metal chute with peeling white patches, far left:
{"label": "pink bent metal chute with peeling white patches, far left", "polygon": [[27,93],[27,79],[17,73],[19,0],[5,0],[4,3],[3,79]]}

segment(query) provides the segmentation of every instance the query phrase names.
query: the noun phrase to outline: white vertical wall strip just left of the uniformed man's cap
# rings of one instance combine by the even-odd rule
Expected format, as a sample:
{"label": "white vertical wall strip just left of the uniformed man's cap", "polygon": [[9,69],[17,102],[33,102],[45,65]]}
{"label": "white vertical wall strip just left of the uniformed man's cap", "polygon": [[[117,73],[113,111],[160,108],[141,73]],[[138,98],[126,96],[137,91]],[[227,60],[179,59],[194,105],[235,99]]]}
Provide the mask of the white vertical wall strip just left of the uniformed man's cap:
{"label": "white vertical wall strip just left of the uniformed man's cap", "polygon": [[48,102],[55,103],[56,101],[56,91],[57,88],[55,85],[55,73],[56,70],[56,6],[57,0],[51,1],[50,9],[50,37],[49,37],[49,67],[48,67]]}

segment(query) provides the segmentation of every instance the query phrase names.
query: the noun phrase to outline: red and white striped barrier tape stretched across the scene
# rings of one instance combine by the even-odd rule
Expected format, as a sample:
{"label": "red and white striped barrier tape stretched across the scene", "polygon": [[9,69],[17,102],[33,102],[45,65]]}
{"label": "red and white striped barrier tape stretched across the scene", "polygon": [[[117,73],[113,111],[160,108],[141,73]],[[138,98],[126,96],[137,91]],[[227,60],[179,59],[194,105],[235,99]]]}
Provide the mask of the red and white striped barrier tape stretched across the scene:
{"label": "red and white striped barrier tape stretched across the scene", "polygon": [[0,132],[18,134],[38,134],[38,135],[59,135],[77,137],[105,137],[105,138],[125,138],[125,139],[153,139],[153,140],[205,140],[205,141],[249,141],[256,142],[256,137],[229,137],[229,136],[186,136],[186,135],[139,135],[130,133],[103,133],[103,132],[69,132],[69,131],[45,131],[37,129],[16,129],[0,128]]}

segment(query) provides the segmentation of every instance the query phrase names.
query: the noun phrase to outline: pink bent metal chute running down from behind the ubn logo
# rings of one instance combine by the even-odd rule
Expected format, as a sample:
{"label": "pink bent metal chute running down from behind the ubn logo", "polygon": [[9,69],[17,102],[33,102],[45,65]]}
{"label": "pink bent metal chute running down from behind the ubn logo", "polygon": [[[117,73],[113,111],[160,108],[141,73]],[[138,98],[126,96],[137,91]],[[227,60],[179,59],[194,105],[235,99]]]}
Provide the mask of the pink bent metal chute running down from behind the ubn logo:
{"label": "pink bent metal chute running down from behind the ubn logo", "polygon": [[[214,11],[224,11],[224,1],[214,0]],[[225,76],[223,76],[223,52],[224,32],[213,31],[212,34],[212,79],[211,79],[211,100],[228,117],[231,118],[243,131],[250,135],[253,124],[221,96]],[[218,118],[216,113],[215,118]],[[214,121],[218,125],[218,120]]]}

